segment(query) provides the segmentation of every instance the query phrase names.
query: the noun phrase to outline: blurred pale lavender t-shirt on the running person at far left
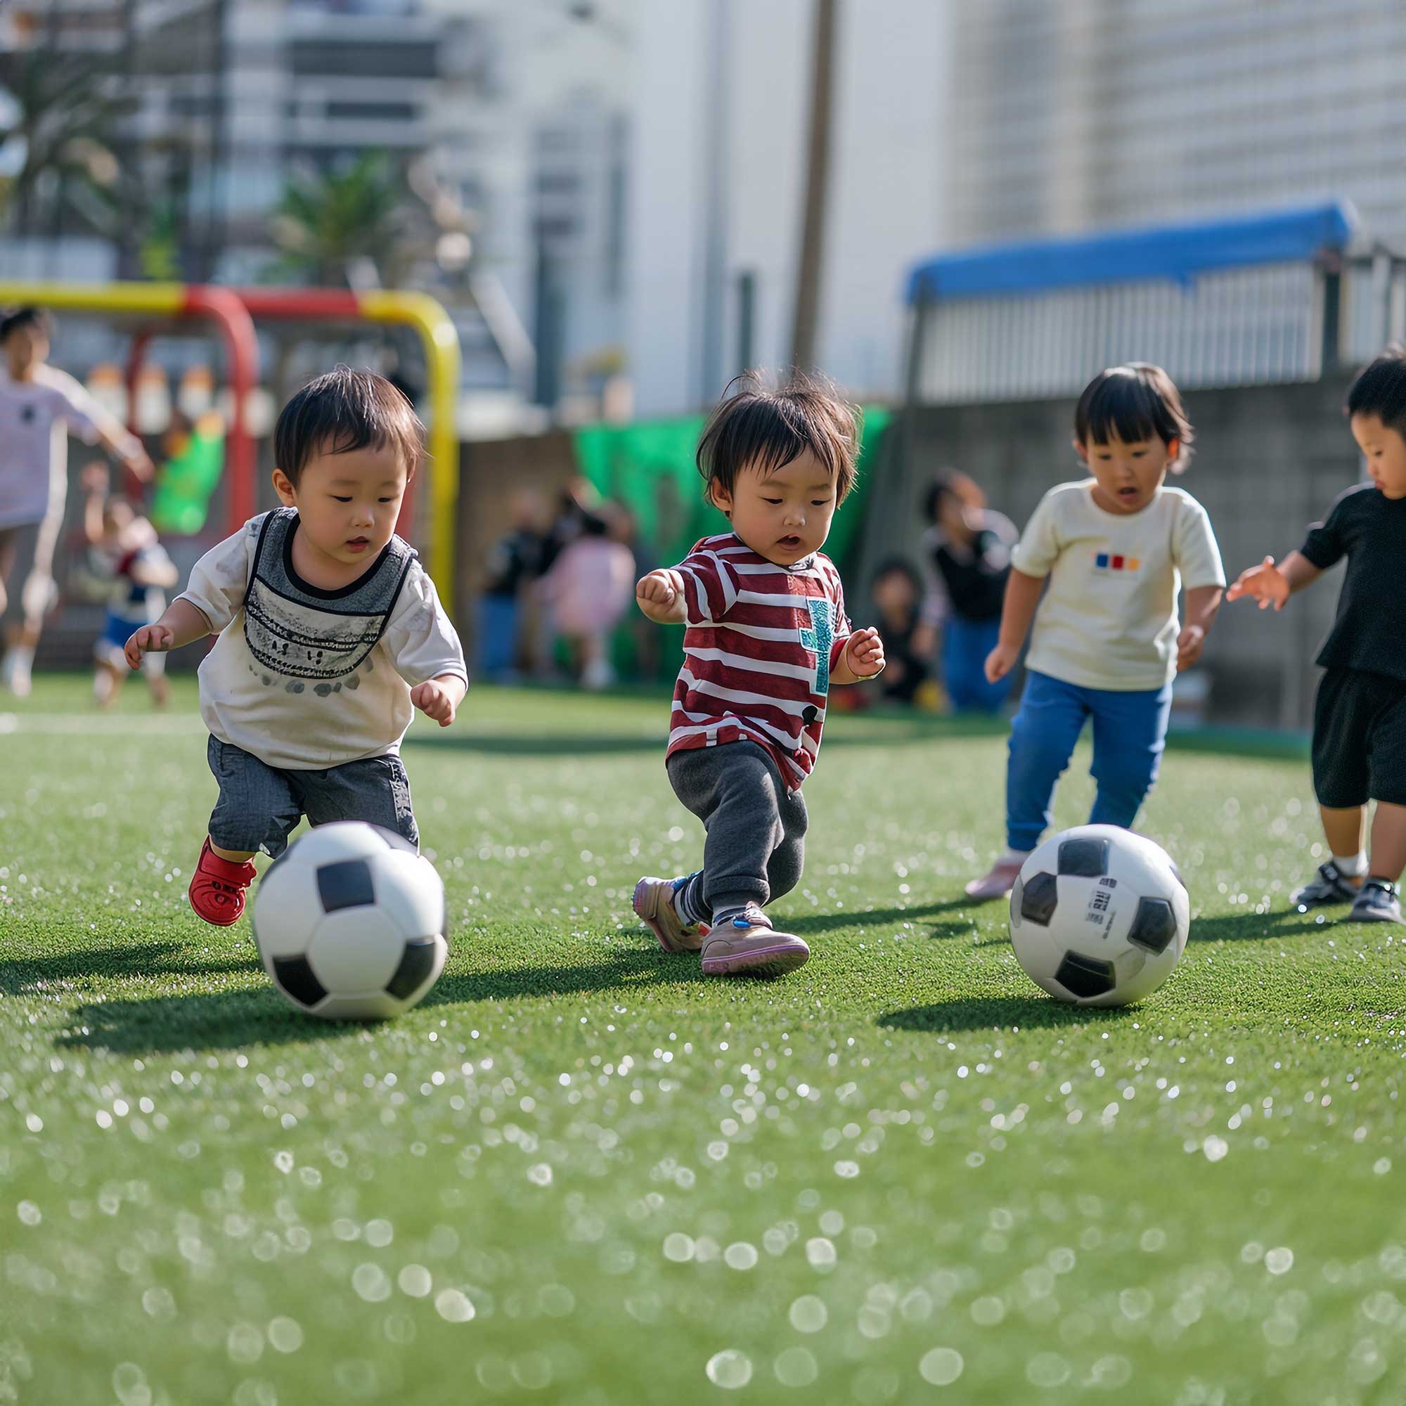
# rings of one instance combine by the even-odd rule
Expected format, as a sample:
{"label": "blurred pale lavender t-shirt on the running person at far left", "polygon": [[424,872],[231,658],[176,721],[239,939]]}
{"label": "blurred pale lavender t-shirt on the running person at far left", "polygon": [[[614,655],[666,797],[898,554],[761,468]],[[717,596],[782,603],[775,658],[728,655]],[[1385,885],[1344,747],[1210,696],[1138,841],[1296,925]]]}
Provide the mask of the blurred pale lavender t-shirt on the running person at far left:
{"label": "blurred pale lavender t-shirt on the running person at far left", "polygon": [[[32,381],[0,375],[0,529],[24,527],[62,510],[69,433],[96,444],[98,426],[110,420],[107,411],[56,367],[37,367]],[[120,425],[115,429],[121,432]]]}

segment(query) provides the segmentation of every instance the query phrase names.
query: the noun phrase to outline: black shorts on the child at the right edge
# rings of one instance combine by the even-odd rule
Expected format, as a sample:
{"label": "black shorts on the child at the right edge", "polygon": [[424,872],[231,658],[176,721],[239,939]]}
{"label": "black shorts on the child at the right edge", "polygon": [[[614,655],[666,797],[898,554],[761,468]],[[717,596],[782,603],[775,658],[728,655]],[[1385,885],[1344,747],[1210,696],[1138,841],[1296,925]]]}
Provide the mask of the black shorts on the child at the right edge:
{"label": "black shorts on the child at the right edge", "polygon": [[1368,800],[1406,806],[1406,679],[1329,669],[1313,704],[1313,790],[1350,810]]}

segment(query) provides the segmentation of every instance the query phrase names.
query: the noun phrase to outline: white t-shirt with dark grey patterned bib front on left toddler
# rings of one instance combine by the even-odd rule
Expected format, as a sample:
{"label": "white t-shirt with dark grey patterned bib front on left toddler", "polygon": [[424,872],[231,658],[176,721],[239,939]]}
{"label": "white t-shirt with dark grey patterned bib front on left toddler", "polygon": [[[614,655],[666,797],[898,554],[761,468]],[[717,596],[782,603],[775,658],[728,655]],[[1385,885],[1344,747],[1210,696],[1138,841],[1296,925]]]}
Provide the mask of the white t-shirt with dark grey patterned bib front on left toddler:
{"label": "white t-shirt with dark grey patterned bib front on left toddler", "polygon": [[219,636],[200,666],[200,716],[222,742],[288,770],[396,754],[411,688],[444,673],[468,682],[454,626],[401,538],[350,585],[322,591],[292,571],[295,531],[295,510],[262,513],[191,569],[177,599]]}

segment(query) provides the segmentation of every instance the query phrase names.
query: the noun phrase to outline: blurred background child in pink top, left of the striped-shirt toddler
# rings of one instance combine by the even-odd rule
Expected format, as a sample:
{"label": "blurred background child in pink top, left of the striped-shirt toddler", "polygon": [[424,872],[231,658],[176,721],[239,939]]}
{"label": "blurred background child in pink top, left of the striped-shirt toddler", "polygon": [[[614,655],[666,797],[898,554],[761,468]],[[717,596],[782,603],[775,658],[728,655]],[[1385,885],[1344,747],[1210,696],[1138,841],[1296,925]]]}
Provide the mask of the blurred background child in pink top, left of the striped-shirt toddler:
{"label": "blurred background child in pink top, left of the striped-shirt toddler", "polygon": [[555,633],[568,643],[583,689],[616,682],[609,640],[634,602],[636,581],[634,553],[620,540],[624,530],[614,503],[583,515],[579,534],[541,582]]}

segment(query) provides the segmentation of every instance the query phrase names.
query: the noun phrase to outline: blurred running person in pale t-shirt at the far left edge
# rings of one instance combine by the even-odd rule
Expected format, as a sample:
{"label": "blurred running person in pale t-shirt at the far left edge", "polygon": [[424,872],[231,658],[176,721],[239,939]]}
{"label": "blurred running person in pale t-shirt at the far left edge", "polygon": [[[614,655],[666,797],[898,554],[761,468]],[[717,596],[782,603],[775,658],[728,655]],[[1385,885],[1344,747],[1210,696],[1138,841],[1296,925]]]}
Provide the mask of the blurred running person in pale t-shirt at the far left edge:
{"label": "blurred running person in pale t-shirt at the far left edge", "polygon": [[141,440],[56,367],[48,364],[49,318],[39,308],[20,308],[0,318],[0,614],[20,540],[34,537],[34,562],[20,592],[22,623],[8,633],[0,683],[24,697],[44,617],[52,609],[53,548],[63,526],[69,491],[69,433],[101,443],[139,479],[153,468]]}

